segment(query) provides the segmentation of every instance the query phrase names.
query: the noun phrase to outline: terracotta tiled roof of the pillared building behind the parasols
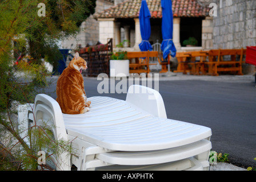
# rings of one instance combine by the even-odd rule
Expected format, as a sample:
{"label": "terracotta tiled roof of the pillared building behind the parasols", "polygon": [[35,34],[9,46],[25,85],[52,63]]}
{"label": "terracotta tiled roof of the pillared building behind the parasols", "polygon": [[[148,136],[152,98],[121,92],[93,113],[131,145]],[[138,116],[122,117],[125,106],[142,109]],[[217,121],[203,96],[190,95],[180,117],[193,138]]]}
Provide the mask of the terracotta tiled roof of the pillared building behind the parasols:
{"label": "terracotta tiled roof of the pillared building behind the parasols", "polygon": [[[95,18],[138,18],[142,0],[127,0],[94,15]],[[162,18],[161,0],[146,0],[151,18]],[[174,17],[202,17],[209,15],[209,7],[196,0],[173,0]]]}

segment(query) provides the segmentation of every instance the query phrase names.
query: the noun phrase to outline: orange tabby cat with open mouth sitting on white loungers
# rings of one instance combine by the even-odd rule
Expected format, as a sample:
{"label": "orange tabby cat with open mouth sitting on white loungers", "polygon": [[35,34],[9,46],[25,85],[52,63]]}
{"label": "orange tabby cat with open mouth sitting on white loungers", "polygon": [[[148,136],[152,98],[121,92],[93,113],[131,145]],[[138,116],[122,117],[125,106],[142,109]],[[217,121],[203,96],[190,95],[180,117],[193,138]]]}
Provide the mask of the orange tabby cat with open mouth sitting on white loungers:
{"label": "orange tabby cat with open mouth sitting on white loungers", "polygon": [[69,66],[59,76],[56,86],[56,101],[59,103],[62,113],[83,114],[90,110],[91,101],[86,101],[81,75],[86,68],[86,61],[76,52]]}

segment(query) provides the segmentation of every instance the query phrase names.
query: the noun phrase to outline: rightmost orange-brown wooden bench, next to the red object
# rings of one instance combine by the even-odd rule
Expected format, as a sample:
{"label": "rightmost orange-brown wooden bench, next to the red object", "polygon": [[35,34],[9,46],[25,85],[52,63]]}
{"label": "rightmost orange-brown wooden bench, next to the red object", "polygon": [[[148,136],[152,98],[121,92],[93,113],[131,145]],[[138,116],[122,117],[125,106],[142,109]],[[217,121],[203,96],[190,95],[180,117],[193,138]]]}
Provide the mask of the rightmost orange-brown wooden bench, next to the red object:
{"label": "rightmost orange-brown wooden bench, next to the red object", "polygon": [[[212,49],[209,51],[208,74],[218,76],[219,72],[237,72],[237,75],[243,75],[242,63],[243,55],[246,49]],[[230,55],[229,60],[223,60],[223,56]],[[237,61],[237,56],[239,60]]]}

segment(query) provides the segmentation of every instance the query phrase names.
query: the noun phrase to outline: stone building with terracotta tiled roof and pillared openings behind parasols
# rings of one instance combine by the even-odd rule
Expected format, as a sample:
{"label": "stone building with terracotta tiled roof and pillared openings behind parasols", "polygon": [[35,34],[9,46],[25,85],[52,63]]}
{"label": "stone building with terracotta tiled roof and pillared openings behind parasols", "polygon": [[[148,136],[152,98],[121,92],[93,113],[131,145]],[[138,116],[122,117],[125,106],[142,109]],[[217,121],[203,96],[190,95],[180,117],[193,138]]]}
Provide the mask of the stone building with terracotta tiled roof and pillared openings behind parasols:
{"label": "stone building with terracotta tiled roof and pillared openings behind parasols", "polygon": [[[116,2],[116,1],[115,1]],[[113,38],[114,45],[126,39],[129,51],[139,50],[141,33],[139,25],[139,9],[141,0],[119,0],[115,6],[95,14],[99,22],[99,41],[106,43]],[[121,3],[120,3],[121,2]],[[173,41],[178,50],[205,49],[213,46],[212,18],[209,16],[209,7],[199,4],[195,0],[173,0]],[[161,0],[147,0],[151,13],[151,37],[149,42],[162,42],[162,8]],[[204,37],[202,37],[204,35]],[[183,47],[183,40],[190,36],[198,40],[197,47]],[[206,37],[205,37],[206,36]]]}

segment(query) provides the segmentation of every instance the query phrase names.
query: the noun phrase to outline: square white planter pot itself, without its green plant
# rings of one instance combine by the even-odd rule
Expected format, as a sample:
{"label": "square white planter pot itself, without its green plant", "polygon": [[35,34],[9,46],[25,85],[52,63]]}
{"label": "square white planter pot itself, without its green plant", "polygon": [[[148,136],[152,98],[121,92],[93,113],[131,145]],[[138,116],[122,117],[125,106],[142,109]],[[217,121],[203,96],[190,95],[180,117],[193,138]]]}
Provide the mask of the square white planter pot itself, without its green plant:
{"label": "square white planter pot itself, without its green plant", "polygon": [[110,77],[129,76],[129,60],[110,60]]}

